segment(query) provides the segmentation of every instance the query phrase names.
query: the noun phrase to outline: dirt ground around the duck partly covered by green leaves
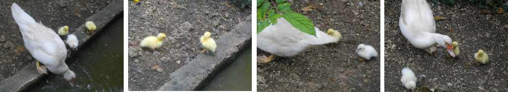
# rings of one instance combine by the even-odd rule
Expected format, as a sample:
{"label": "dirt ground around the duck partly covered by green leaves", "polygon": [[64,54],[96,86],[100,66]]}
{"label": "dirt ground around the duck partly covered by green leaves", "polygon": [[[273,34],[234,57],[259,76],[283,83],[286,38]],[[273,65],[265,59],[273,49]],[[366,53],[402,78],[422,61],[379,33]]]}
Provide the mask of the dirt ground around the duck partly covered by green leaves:
{"label": "dirt ground around the duck partly covered by green leaves", "polygon": [[[258,91],[379,91],[380,59],[362,62],[355,52],[360,43],[380,49],[379,1],[290,3],[293,11],[309,18],[322,31],[339,30],[341,40],[346,42],[323,44],[295,57],[258,63]],[[309,5],[317,8],[301,10]],[[258,49],[258,55],[270,54]]]}

